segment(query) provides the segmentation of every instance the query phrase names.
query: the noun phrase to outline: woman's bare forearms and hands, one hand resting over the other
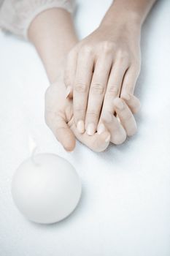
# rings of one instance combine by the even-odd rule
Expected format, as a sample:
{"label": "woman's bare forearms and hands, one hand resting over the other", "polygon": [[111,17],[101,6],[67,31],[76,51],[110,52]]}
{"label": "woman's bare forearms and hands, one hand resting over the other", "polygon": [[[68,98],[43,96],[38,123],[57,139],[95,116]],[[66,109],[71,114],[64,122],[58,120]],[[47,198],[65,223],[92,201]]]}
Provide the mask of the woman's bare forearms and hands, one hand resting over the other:
{"label": "woman's bare forearms and hands, one hand resting over the other", "polygon": [[136,132],[140,34],[154,2],[115,0],[98,29],[80,42],[65,10],[47,10],[31,23],[28,36],[53,83],[45,120],[67,151],[75,138],[104,151],[109,141],[120,144]]}

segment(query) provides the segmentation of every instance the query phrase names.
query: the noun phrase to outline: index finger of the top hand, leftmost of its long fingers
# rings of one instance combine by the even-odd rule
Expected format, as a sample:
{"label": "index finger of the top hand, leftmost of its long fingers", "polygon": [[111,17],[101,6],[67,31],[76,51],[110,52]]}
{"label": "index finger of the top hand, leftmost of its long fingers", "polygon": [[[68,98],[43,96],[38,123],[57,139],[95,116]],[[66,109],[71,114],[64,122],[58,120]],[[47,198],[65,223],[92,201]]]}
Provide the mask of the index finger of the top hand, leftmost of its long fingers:
{"label": "index finger of the top hand, leftmost of its long fingers", "polygon": [[85,113],[93,74],[93,62],[94,59],[90,48],[82,48],[77,59],[77,72],[73,88],[74,121],[80,133],[85,132]]}

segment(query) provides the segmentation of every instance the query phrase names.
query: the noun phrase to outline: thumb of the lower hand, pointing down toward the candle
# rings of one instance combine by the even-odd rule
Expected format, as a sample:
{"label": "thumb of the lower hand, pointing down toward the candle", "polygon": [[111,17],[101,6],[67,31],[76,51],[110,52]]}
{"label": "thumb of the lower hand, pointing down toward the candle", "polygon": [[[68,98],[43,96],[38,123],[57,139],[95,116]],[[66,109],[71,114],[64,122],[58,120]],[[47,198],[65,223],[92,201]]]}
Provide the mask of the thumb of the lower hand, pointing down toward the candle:
{"label": "thumb of the lower hand, pointing down toward the candle", "polygon": [[45,119],[48,127],[50,127],[55,137],[63,145],[63,148],[66,151],[73,151],[76,140],[72,130],[66,124],[66,120],[52,112],[47,112]]}

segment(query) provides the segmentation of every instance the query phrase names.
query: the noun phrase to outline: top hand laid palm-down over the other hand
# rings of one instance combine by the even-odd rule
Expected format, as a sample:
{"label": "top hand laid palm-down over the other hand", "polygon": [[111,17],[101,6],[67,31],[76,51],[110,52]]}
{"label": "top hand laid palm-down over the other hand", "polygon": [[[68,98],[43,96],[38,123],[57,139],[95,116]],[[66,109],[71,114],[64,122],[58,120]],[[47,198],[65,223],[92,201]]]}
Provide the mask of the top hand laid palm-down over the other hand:
{"label": "top hand laid palm-down over the other hand", "polygon": [[[124,99],[124,121],[127,135],[134,135],[136,122],[132,113],[139,110],[134,96],[140,70],[140,28],[119,23],[99,26],[70,51],[65,72],[69,98],[73,97],[74,121],[80,133],[104,131],[106,113],[120,112]],[[122,105],[122,106],[123,106]]]}

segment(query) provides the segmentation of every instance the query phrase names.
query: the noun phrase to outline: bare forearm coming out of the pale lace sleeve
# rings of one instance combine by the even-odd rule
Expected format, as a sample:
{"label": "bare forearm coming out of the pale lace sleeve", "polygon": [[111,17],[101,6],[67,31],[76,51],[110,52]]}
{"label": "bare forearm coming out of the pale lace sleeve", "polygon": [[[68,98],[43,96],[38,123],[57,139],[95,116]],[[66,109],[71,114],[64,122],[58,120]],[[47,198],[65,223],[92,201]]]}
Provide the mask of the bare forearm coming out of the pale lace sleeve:
{"label": "bare forearm coming out of the pale lace sleeve", "polygon": [[71,15],[59,8],[40,13],[28,29],[28,38],[35,45],[50,83],[53,83],[63,59],[77,43]]}

